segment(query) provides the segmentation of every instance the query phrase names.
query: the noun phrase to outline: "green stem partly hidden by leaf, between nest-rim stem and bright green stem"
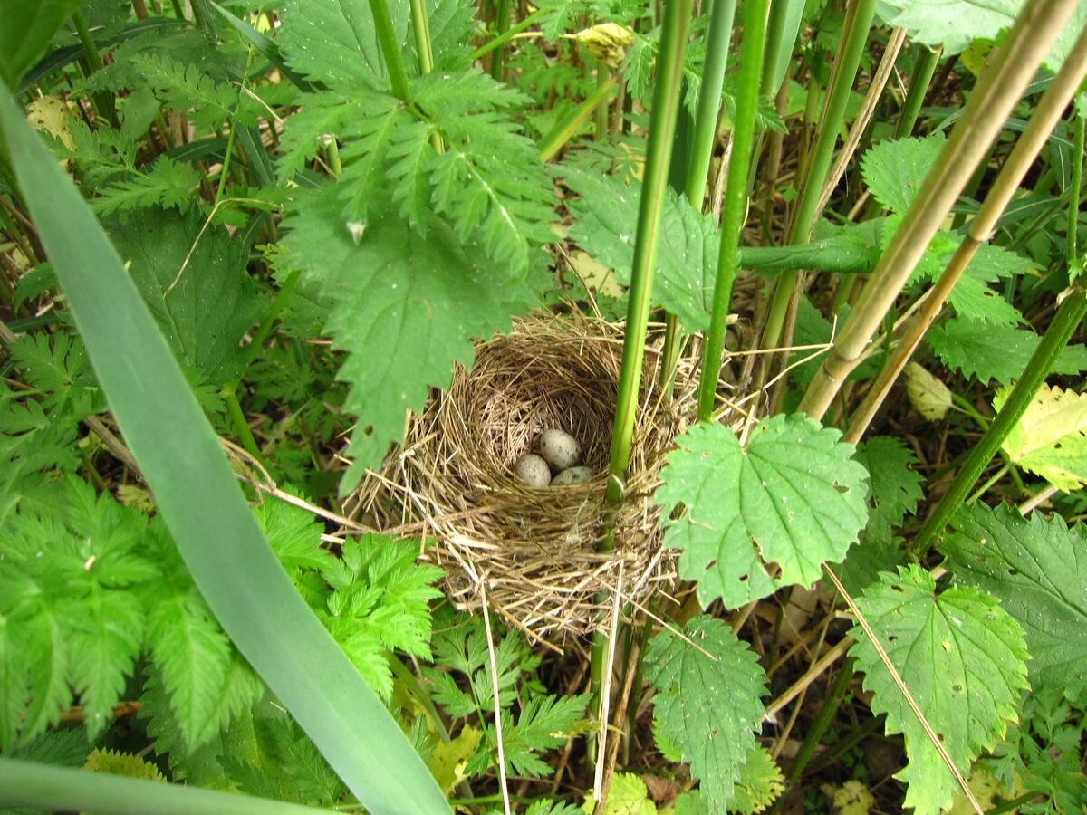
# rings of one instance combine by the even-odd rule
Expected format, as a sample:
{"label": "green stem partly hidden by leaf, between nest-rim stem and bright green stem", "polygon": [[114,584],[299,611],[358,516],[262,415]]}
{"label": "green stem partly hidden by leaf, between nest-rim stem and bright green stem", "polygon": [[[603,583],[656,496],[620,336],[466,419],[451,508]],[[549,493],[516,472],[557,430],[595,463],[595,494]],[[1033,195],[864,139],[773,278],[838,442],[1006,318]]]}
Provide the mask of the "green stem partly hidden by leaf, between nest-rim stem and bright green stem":
{"label": "green stem partly hidden by leaf, between nest-rim stem and bright green stem", "polygon": [[[695,126],[691,128],[690,150],[684,179],[684,195],[691,206],[701,210],[705,185],[710,178],[710,159],[717,137],[717,114],[721,112],[721,89],[725,84],[728,66],[728,46],[733,38],[733,18],[736,0],[714,0],[710,11],[710,32],[705,42],[705,62],[702,64],[702,85],[698,96]],[[683,333],[674,314],[665,323],[664,351],[661,364],[661,383],[671,392],[679,362]]]}

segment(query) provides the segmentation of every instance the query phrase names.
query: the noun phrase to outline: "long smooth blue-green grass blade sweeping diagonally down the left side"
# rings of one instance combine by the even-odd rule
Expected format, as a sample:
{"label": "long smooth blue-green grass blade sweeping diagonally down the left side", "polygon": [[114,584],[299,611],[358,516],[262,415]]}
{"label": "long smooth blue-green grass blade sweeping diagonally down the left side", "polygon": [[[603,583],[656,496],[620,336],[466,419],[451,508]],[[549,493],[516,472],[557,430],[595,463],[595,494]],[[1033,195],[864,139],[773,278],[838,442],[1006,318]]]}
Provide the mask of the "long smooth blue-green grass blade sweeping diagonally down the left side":
{"label": "long smooth blue-green grass blade sweeping diagonally down the left side", "polygon": [[291,586],[116,251],[7,93],[0,133],[110,408],[215,617],[367,810],[449,812]]}

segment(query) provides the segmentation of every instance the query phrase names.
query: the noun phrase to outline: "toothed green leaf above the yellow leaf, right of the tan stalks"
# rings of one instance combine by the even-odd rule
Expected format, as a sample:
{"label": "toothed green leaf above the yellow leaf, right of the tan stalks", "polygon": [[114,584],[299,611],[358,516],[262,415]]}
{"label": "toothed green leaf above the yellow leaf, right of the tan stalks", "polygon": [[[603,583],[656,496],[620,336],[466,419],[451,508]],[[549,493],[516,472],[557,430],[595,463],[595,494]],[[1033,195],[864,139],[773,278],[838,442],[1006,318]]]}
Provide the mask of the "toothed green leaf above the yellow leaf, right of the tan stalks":
{"label": "toothed green leaf above the yellow leaf, right of the tan stalks", "polygon": [[[1011,385],[1023,375],[1041,341],[1026,328],[960,317],[933,326],[926,336],[929,347],[949,368],[982,384],[996,379],[1001,385]],[[1084,346],[1069,346],[1053,365],[1054,374],[1073,376],[1082,371],[1087,371]]]}

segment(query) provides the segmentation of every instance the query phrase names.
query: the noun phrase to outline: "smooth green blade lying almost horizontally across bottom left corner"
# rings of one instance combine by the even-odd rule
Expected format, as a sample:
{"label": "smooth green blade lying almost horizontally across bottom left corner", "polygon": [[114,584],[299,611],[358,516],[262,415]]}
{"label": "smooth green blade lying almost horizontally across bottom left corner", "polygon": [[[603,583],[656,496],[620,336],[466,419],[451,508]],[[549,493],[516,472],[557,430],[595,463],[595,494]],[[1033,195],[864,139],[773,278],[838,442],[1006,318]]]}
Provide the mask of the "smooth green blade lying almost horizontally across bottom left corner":
{"label": "smooth green blade lying almost horizontally across bottom left corner", "polygon": [[0,806],[117,815],[312,815],[301,804],[0,756]]}

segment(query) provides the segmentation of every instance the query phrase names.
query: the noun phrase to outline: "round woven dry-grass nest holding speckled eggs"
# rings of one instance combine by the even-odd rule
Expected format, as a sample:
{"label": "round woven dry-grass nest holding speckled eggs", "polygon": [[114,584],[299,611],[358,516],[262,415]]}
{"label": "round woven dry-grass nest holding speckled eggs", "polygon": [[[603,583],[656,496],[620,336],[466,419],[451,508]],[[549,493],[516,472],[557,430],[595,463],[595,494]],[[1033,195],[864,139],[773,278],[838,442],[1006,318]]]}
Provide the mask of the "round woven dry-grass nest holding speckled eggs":
{"label": "round woven dry-grass nest holding speckled eggs", "polygon": [[[675,436],[694,418],[697,372],[680,361],[674,396],[657,384],[659,338],[647,348],[616,546],[597,551],[604,509],[612,417],[623,354],[621,325],[551,314],[476,346],[413,416],[405,442],[357,496],[355,512],[389,534],[437,543],[428,557],[447,574],[462,609],[492,611],[534,639],[586,634],[607,624],[600,598],[646,598],[674,579],[650,497]],[[513,473],[547,428],[583,449],[589,482],[532,488]],[[602,594],[601,594],[602,592]]]}

